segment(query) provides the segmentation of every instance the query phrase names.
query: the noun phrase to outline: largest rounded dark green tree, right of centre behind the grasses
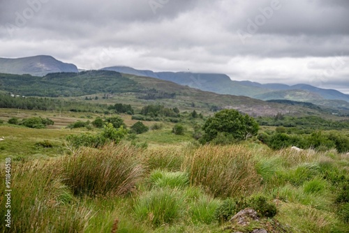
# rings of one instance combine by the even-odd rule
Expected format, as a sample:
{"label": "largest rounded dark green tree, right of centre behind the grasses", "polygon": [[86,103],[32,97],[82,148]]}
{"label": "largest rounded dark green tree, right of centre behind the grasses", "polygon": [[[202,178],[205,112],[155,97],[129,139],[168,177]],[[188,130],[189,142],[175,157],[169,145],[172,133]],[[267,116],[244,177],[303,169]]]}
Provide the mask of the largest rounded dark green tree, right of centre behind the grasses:
{"label": "largest rounded dark green tree, right of centre behind the grasses", "polygon": [[210,117],[205,122],[202,129],[205,134],[200,142],[211,142],[218,133],[229,135],[235,140],[246,140],[248,137],[257,135],[258,123],[247,114],[241,114],[237,110],[222,110]]}

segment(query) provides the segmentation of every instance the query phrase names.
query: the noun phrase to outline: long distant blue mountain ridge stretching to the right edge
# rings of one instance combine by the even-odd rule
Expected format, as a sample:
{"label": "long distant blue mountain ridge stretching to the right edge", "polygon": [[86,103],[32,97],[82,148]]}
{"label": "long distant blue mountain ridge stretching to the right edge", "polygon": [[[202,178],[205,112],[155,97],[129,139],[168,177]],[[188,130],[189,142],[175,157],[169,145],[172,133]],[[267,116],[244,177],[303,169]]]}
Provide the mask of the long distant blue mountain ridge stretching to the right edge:
{"label": "long distant blue mountain ridge stretching to the right edge", "polygon": [[[151,70],[136,70],[127,66],[112,66],[102,70],[113,70],[131,75],[155,77],[161,80],[175,82],[180,85],[193,87],[203,91],[230,94],[235,96],[248,96],[261,100],[285,99],[312,102],[315,100],[345,100],[349,95],[333,89],[321,89],[308,84],[260,84],[251,81],[230,80],[228,75],[216,73],[190,73],[190,72],[153,72]],[[287,91],[287,93],[283,93]]]}

